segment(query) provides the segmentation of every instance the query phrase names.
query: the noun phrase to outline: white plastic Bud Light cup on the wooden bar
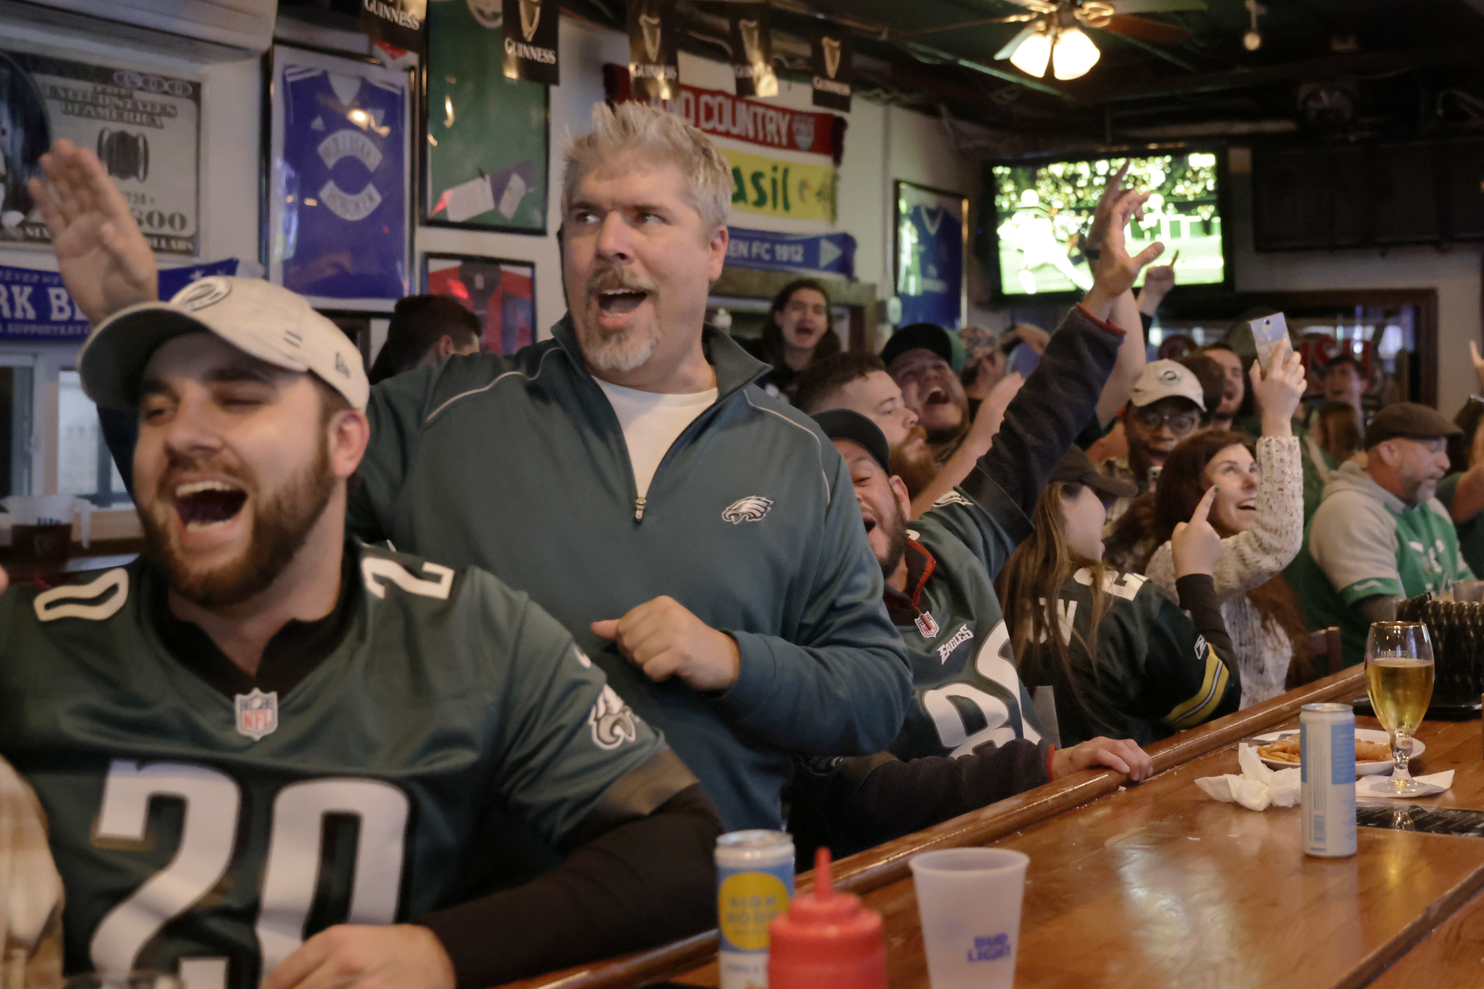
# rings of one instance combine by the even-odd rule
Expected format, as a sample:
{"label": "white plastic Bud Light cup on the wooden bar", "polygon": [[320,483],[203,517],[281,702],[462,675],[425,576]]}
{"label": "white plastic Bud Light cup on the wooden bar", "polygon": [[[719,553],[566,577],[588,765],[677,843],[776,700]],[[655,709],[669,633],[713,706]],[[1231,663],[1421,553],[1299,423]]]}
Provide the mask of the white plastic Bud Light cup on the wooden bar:
{"label": "white plastic Bud Light cup on the wooden bar", "polygon": [[1011,989],[1030,856],[1005,848],[929,851],[907,863],[932,989]]}

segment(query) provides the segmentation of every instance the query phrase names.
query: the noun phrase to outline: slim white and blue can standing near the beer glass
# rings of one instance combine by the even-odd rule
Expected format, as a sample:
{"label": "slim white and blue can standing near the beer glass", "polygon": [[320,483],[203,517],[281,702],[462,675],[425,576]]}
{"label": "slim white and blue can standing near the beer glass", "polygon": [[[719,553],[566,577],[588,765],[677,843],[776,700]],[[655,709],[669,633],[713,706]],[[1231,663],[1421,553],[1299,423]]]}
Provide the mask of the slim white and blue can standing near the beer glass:
{"label": "slim white and blue can standing near the beer glass", "polygon": [[1303,854],[1355,854],[1355,709],[1304,704],[1298,713]]}

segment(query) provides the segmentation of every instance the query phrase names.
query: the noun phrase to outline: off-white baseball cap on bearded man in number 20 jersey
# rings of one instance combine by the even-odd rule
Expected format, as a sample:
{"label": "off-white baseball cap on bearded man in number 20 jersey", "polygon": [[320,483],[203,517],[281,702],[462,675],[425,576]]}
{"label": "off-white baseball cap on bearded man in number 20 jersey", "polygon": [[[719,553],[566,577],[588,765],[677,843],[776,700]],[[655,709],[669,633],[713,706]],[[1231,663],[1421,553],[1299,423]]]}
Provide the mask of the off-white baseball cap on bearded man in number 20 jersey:
{"label": "off-white baseball cap on bearded man in number 20 jersey", "polygon": [[77,354],[83,391],[104,408],[132,408],[154,351],[200,331],[276,368],[310,371],[353,408],[367,406],[371,384],[361,351],[338,326],[301,295],[226,274],[191,282],[169,302],[141,302],[104,320]]}

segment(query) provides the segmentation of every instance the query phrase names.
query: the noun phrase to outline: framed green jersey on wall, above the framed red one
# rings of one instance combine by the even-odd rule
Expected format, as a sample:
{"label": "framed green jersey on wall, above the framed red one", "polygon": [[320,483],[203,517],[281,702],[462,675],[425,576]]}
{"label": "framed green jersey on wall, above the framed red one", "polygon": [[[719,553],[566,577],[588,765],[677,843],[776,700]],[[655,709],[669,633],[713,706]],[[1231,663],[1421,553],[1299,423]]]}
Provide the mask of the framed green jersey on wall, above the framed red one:
{"label": "framed green jersey on wall, above the framed red one", "polygon": [[500,0],[429,0],[421,218],[546,233],[549,89],[506,79]]}

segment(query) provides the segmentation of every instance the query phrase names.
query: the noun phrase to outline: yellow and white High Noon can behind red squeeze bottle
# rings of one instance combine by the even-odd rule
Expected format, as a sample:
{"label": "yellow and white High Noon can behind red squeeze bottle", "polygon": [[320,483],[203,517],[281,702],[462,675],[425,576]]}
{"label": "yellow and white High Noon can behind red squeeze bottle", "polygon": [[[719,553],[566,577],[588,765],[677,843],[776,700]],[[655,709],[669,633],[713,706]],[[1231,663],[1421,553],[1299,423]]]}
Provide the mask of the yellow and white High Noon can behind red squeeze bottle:
{"label": "yellow and white High Noon can behind red squeeze bottle", "polygon": [[767,989],[767,925],[794,897],[794,839],[782,830],[717,838],[721,989]]}

